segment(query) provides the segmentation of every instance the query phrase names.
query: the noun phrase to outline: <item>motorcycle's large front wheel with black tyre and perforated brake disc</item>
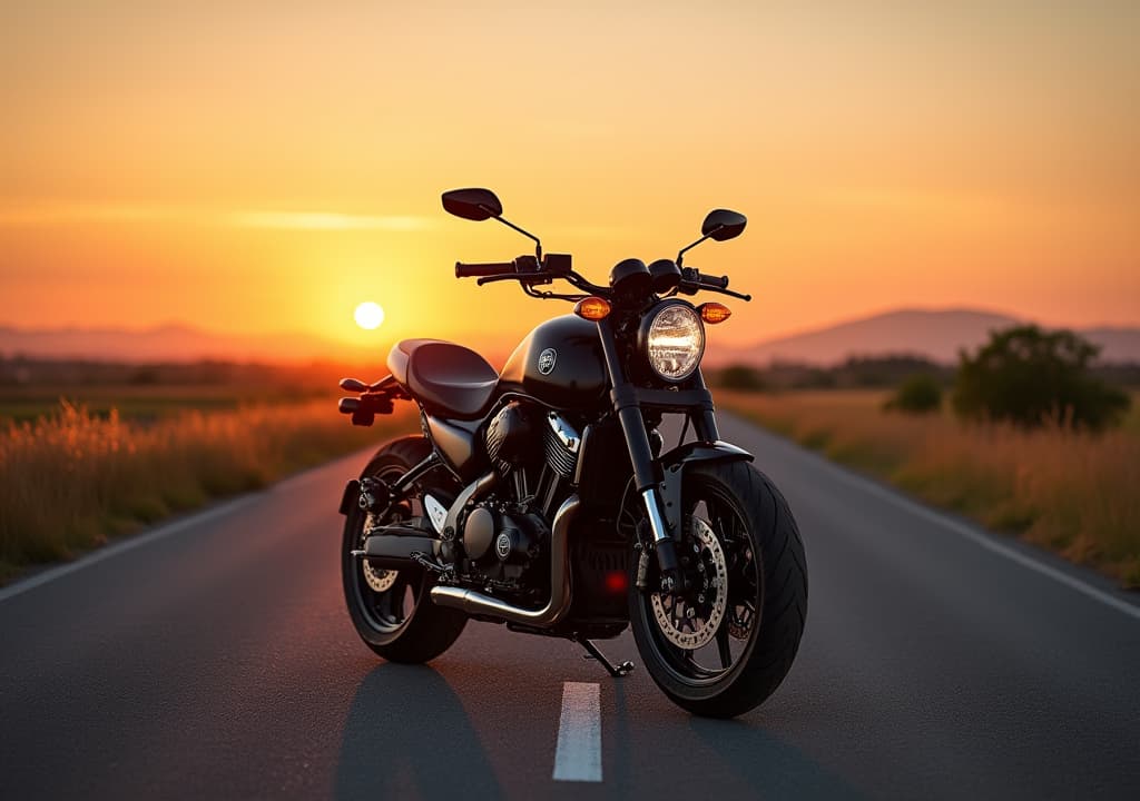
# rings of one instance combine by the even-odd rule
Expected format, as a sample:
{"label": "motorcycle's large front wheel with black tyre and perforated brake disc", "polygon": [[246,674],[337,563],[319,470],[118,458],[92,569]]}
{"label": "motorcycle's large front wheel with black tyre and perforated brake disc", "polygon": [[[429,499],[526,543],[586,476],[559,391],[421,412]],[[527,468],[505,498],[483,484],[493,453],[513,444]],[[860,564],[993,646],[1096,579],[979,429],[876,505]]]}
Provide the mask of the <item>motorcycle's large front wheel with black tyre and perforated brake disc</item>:
{"label": "motorcycle's large front wheel with black tyre and perforated brake disc", "polygon": [[733,718],[783,681],[807,614],[804,543],[788,502],[744,461],[686,468],[677,557],[683,591],[629,591],[629,620],[645,669],[693,712]]}

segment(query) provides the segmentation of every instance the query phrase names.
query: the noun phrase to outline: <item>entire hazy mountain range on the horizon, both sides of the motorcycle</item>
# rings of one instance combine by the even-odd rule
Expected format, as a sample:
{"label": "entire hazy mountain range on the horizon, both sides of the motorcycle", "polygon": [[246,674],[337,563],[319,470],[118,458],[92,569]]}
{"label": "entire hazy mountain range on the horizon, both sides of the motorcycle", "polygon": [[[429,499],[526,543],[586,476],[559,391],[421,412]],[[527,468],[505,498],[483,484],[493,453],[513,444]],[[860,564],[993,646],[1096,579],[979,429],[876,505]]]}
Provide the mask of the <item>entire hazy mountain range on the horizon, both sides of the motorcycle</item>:
{"label": "entire hazy mountain range on the horizon, both sides of the motorcycle", "polygon": [[[832,365],[850,355],[907,353],[953,362],[959,350],[977,348],[991,330],[1025,322],[1009,314],[976,309],[897,309],[747,346],[714,345],[711,365],[773,360]],[[1102,348],[1102,361],[1140,361],[1140,327],[1077,329]],[[386,351],[386,349],[385,349]],[[116,328],[19,329],[0,326],[0,355],[95,361],[223,361],[308,362],[352,361],[365,353],[308,334],[229,335],[185,325],[141,330]],[[383,358],[383,353],[378,354]]]}

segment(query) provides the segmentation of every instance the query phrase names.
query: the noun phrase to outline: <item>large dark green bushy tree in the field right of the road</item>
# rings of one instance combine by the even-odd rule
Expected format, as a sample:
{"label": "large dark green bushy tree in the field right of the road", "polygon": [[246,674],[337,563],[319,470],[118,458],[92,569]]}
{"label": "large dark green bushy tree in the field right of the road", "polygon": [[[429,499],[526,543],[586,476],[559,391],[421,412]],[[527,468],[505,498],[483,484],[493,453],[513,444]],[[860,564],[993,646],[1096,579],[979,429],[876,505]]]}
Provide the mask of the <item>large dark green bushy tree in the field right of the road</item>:
{"label": "large dark green bushy tree in the field right of the road", "polygon": [[993,332],[977,353],[960,353],[954,409],[967,419],[1024,426],[1058,417],[1093,430],[1115,425],[1129,397],[1090,375],[1099,352],[1070,330],[1015,326]]}

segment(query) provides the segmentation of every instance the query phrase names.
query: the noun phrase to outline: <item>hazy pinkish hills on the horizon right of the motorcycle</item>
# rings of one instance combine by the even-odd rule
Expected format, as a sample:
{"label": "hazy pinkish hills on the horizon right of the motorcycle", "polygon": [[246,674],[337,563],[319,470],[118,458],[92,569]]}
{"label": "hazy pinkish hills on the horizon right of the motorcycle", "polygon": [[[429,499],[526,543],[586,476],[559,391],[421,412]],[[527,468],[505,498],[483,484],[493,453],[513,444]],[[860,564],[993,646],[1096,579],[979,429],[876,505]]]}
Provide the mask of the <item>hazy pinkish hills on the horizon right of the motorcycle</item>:
{"label": "hazy pinkish hills on the horizon right of the motorcycle", "polygon": [[[899,309],[748,348],[717,349],[715,359],[718,363],[767,365],[779,360],[834,365],[850,355],[911,353],[954,362],[960,349],[977,348],[988,340],[990,332],[1025,321],[975,309]],[[1104,348],[1102,361],[1140,361],[1140,328],[1077,330]]]}

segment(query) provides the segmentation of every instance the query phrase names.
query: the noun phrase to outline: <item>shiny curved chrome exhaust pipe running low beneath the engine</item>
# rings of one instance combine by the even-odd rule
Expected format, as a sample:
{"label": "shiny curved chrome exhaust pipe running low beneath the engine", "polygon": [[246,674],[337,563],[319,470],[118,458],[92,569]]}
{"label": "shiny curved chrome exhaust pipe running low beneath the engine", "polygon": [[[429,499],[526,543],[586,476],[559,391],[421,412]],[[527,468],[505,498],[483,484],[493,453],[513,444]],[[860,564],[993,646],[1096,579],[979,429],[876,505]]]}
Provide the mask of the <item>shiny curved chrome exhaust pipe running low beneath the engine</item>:
{"label": "shiny curved chrome exhaust pipe running low beneath the engine", "polygon": [[467,614],[502,618],[510,623],[547,628],[556,623],[570,607],[570,524],[578,514],[578,496],[570,496],[557,514],[551,530],[551,599],[540,610],[512,606],[504,600],[472,589],[432,587],[432,603],[463,610]]}

